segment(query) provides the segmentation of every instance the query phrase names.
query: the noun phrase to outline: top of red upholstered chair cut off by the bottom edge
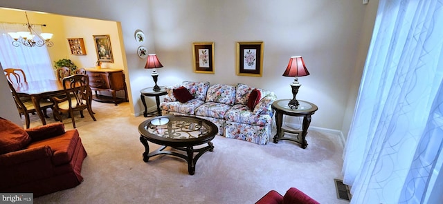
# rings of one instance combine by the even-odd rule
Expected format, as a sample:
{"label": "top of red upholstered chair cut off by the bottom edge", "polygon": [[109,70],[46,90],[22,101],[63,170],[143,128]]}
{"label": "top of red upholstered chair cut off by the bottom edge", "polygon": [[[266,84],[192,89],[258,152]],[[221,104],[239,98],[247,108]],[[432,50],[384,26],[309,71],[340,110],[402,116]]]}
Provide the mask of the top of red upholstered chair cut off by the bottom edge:
{"label": "top of red upholstered chair cut off by the bottom edge", "polygon": [[317,201],[309,197],[307,194],[301,192],[296,187],[291,187],[282,196],[275,190],[271,190],[264,195],[255,204],[318,204]]}

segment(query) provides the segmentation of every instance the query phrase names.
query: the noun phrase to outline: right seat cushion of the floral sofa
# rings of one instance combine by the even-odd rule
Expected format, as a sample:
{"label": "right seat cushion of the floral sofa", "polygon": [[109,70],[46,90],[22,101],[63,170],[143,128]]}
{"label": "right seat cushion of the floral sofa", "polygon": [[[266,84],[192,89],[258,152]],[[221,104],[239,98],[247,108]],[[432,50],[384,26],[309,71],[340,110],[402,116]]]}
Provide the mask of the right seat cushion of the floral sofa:
{"label": "right seat cushion of the floral sofa", "polygon": [[237,104],[233,105],[233,107],[224,114],[224,119],[235,123],[266,125],[267,123],[271,123],[272,116],[269,114],[254,114],[249,110],[248,106]]}

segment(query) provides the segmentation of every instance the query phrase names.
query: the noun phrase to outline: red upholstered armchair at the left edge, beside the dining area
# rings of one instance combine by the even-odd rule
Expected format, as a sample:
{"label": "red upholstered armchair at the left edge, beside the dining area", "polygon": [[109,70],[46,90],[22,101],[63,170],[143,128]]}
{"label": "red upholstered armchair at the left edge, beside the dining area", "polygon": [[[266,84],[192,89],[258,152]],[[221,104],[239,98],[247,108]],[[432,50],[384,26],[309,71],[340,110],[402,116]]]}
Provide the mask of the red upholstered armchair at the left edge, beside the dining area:
{"label": "red upholstered armchair at the left edge, beside the dining area", "polygon": [[86,156],[78,131],[63,123],[24,130],[0,117],[0,192],[37,197],[75,187]]}

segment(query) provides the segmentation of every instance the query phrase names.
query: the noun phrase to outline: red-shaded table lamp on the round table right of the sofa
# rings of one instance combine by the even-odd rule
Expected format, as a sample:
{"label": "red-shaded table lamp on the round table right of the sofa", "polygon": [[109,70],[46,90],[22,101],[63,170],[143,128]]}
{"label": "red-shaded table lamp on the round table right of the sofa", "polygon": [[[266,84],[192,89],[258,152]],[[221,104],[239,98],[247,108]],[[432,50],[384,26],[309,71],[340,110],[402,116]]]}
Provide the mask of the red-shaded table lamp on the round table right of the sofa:
{"label": "red-shaded table lamp on the round table right of the sofa", "polygon": [[298,101],[296,95],[298,93],[298,88],[300,88],[301,83],[298,83],[298,76],[307,76],[309,72],[306,69],[305,61],[301,56],[294,56],[289,59],[288,67],[284,70],[283,76],[295,76],[293,83],[291,83],[293,98],[289,101],[289,108],[298,108]]}

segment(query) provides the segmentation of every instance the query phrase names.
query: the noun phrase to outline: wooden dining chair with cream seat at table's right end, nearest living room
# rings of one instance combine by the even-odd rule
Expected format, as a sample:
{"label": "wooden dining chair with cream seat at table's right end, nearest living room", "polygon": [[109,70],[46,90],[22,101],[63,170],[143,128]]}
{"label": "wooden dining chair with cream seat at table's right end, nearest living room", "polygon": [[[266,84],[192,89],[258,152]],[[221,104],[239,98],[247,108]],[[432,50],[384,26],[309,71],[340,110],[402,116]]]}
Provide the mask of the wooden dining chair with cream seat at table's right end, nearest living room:
{"label": "wooden dining chair with cream seat at table's right end, nearest living room", "polygon": [[92,91],[89,87],[88,76],[83,74],[67,76],[63,79],[62,84],[64,95],[52,98],[55,119],[62,121],[60,113],[68,113],[71,116],[73,128],[75,128],[74,111],[80,111],[80,116],[84,118],[83,110],[87,109],[91,118],[97,121],[92,112]]}

